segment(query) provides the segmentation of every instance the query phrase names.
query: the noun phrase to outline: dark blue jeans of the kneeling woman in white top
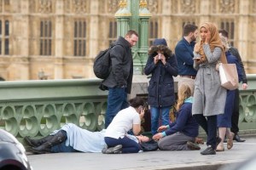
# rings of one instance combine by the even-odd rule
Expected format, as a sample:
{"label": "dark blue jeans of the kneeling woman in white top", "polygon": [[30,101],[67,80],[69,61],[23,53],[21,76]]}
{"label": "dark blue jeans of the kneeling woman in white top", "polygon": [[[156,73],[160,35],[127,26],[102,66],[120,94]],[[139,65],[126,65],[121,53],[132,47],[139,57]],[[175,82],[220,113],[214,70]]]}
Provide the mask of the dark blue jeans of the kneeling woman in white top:
{"label": "dark blue jeans of the kneeling woman in white top", "polygon": [[125,136],[123,139],[113,139],[110,137],[105,137],[105,143],[108,147],[113,147],[118,144],[122,144],[122,153],[137,153],[140,150],[140,145],[136,141]]}

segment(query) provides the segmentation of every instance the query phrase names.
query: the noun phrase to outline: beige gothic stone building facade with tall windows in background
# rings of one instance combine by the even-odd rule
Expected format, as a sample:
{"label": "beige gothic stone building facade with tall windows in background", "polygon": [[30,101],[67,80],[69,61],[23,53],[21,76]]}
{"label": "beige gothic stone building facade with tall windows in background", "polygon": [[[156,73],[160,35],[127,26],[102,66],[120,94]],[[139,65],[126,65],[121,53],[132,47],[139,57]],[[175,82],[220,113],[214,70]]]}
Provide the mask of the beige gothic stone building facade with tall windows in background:
{"label": "beige gothic stone building facade with tall windows in background", "polygon": [[[139,0],[138,0],[139,1]],[[172,50],[185,23],[212,21],[230,32],[247,73],[256,72],[255,0],[147,0],[148,45]],[[0,0],[0,79],[94,77],[96,54],[117,37],[119,0]]]}

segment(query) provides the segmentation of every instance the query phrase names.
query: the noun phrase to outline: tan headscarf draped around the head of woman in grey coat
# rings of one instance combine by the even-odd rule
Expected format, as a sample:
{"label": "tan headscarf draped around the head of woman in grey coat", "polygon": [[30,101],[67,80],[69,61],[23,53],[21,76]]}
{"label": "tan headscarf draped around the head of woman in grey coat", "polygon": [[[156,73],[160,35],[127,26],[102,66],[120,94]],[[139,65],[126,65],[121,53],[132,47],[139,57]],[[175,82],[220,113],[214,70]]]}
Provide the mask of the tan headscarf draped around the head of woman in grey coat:
{"label": "tan headscarf draped around the head of woman in grey coat", "polygon": [[[205,27],[207,29],[207,31],[211,32],[211,39],[210,39],[210,42],[209,42],[211,51],[213,51],[214,48],[216,48],[216,47],[221,48],[222,54],[221,54],[219,60],[222,63],[226,64],[227,63],[227,59],[226,59],[226,56],[225,56],[225,53],[224,53],[223,43],[221,42],[220,37],[218,35],[218,28],[217,28],[217,26],[215,26],[211,22],[205,22],[205,23],[203,23],[200,26],[200,29],[201,29],[201,27]],[[205,52],[203,50],[204,42],[201,40],[201,42],[197,42],[197,43],[199,43],[199,45],[200,45],[199,54],[201,55],[201,60],[206,61],[207,57],[206,57],[206,54],[205,54]]]}

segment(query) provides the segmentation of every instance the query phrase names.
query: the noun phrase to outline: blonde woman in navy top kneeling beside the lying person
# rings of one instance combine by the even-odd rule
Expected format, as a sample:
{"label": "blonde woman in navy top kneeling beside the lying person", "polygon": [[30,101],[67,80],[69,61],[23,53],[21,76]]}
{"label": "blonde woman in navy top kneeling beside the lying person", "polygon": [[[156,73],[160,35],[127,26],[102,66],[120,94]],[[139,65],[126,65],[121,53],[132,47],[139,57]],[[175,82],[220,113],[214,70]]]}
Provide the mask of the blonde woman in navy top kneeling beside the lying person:
{"label": "blonde woman in navy top kneeling beside the lying person", "polygon": [[161,126],[153,139],[158,140],[160,150],[200,150],[195,144],[199,125],[192,117],[191,90],[188,85],[181,85],[177,92],[177,119],[169,125]]}

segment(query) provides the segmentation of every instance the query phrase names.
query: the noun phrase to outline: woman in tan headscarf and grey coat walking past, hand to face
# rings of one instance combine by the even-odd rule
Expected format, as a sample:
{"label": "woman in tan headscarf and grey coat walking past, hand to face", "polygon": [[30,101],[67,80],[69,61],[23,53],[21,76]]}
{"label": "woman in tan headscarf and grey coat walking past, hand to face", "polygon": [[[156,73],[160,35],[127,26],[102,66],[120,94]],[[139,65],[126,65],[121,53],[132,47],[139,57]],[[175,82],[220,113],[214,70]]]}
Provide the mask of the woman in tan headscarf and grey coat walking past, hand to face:
{"label": "woman in tan headscarf and grey coat walking past, hand to face", "polygon": [[220,84],[216,70],[218,60],[227,63],[223,44],[217,27],[205,22],[200,26],[201,42],[195,44],[194,68],[195,78],[194,102],[192,114],[207,133],[207,149],[201,155],[215,155],[217,143],[217,116],[224,114],[227,90]]}

